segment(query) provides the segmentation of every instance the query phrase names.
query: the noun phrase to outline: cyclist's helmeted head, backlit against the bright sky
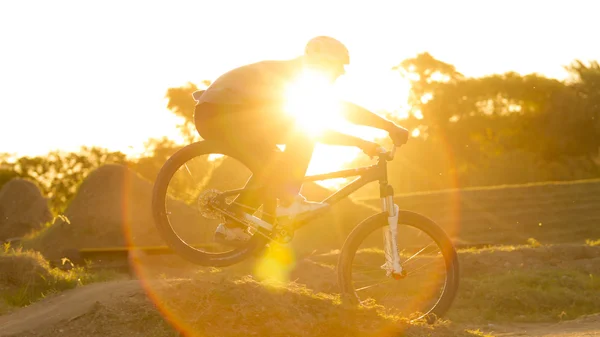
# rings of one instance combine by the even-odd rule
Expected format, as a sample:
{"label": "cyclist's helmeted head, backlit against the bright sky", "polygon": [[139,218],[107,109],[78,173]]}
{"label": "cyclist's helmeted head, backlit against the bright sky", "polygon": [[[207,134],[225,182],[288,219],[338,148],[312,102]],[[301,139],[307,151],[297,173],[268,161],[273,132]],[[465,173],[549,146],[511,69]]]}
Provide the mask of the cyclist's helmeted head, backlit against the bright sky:
{"label": "cyclist's helmeted head, backlit against the bright sky", "polygon": [[350,64],[350,53],[346,46],[329,36],[317,36],[308,41],[304,58],[308,65],[326,72],[332,80],[343,75],[345,65]]}

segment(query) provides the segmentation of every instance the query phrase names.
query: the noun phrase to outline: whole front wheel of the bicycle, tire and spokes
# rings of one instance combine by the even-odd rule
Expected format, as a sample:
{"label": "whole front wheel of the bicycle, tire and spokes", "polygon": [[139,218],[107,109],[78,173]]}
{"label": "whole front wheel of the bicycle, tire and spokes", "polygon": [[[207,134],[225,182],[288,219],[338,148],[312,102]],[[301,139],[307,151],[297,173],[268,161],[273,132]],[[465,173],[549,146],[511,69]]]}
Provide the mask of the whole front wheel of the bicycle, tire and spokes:
{"label": "whole front wheel of the bicycle, tire and spokes", "polygon": [[458,257],[447,234],[431,219],[399,211],[398,252],[404,277],[387,276],[383,230],[387,213],[376,214],[350,233],[338,261],[344,298],[379,304],[390,313],[435,320],[446,313],[459,283]]}

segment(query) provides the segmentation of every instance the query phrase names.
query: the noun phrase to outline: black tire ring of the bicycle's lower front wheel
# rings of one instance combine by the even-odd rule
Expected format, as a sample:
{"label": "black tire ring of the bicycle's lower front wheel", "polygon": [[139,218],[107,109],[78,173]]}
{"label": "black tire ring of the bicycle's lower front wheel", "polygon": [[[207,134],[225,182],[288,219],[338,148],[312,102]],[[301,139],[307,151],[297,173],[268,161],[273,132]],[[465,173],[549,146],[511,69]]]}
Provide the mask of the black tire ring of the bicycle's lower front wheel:
{"label": "black tire ring of the bicycle's lower front wheel", "polygon": [[[428,312],[415,319],[426,318],[431,323],[448,311],[456,296],[459,285],[458,255],[448,235],[433,220],[415,212],[400,210],[398,224],[422,230],[441,248],[446,263],[447,275],[444,292]],[[349,300],[352,304],[360,303],[360,299],[352,286],[352,262],[356,251],[369,234],[387,225],[387,213],[375,214],[358,224],[348,235],[342,246],[342,252],[338,260],[338,284],[342,292],[342,298]]]}

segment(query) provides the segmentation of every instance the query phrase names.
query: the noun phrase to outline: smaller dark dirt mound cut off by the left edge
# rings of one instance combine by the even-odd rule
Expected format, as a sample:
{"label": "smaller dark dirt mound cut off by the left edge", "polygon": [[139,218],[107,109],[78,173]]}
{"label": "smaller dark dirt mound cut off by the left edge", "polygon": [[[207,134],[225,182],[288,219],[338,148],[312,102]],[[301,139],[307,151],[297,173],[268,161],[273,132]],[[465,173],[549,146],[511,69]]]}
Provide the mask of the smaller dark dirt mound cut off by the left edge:
{"label": "smaller dark dirt mound cut off by the left edge", "polygon": [[48,200],[33,182],[15,178],[0,190],[0,242],[24,236],[50,220]]}

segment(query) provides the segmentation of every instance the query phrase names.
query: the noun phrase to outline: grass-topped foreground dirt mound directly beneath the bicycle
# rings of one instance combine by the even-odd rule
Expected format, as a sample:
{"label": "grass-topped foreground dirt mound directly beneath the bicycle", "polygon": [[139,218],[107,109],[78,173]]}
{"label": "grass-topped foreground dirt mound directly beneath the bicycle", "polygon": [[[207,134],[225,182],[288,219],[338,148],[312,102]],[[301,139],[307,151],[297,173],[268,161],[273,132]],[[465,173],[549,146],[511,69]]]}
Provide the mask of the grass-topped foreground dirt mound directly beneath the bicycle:
{"label": "grass-topped foreground dirt mound directly beneath the bicycle", "polygon": [[[54,309],[54,322],[47,317],[48,307]],[[202,279],[144,282],[143,287],[136,281],[82,287],[1,317],[5,328],[0,331],[21,337],[397,336],[399,330],[406,336],[472,336],[446,323],[410,325],[380,310],[344,306],[334,295],[295,283],[232,280],[212,273]]]}

